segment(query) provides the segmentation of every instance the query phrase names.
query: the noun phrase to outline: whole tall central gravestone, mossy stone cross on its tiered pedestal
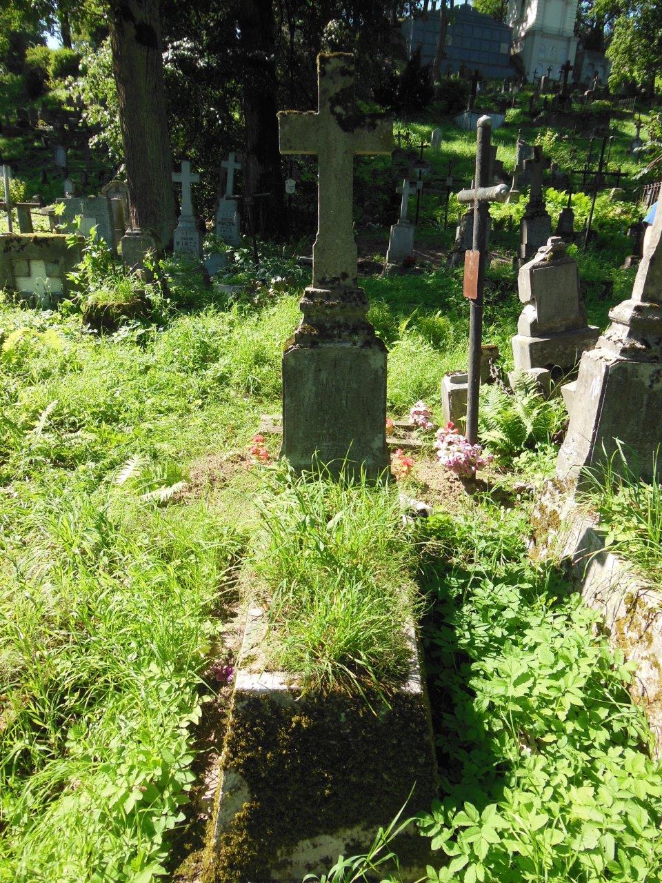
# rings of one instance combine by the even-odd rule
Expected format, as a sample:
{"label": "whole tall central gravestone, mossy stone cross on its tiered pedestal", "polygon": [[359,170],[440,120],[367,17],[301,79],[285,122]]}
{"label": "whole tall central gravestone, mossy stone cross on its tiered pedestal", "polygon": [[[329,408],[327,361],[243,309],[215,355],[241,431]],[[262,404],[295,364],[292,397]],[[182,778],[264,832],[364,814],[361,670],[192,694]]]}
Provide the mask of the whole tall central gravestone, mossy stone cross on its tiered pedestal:
{"label": "whole tall central gravestone, mossy stone cross on its tiered pedestal", "polygon": [[319,226],[312,286],[283,354],[282,454],[297,472],[319,457],[332,472],[387,471],[387,351],[357,287],[352,220],[355,155],[392,152],[393,125],[364,116],[354,96],[354,57],[318,57],[319,109],[278,115],[281,152],[317,155]]}

